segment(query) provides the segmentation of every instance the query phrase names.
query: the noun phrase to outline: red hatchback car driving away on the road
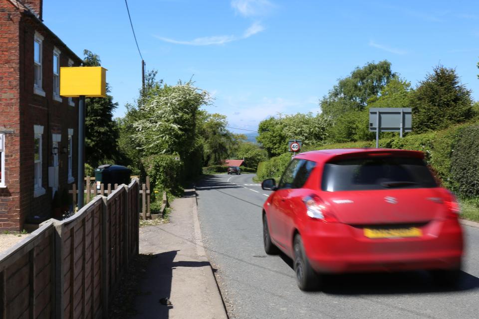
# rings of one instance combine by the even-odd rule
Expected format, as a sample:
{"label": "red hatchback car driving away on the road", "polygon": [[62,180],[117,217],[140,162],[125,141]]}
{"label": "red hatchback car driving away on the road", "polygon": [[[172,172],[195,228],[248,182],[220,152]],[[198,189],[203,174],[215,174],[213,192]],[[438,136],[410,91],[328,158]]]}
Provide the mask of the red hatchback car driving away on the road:
{"label": "red hatchback car driving away on the road", "polygon": [[417,151],[343,149],[297,155],[263,205],[267,254],[293,259],[301,290],[321,274],[430,270],[460,274],[463,231],[455,196]]}

